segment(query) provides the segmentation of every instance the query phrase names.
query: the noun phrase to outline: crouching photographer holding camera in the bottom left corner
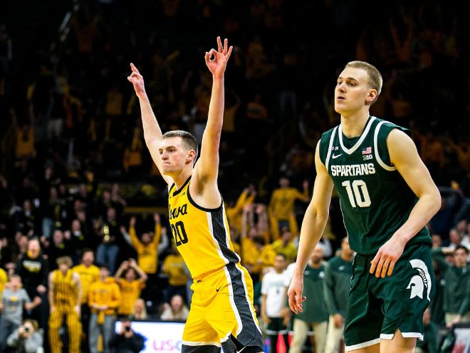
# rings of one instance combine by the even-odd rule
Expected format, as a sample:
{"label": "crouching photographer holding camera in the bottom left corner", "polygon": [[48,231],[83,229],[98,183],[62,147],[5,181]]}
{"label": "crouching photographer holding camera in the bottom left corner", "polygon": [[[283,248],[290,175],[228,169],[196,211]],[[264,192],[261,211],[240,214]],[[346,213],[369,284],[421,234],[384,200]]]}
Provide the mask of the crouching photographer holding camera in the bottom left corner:
{"label": "crouching photographer holding camera in the bottom left corner", "polygon": [[38,332],[38,322],[33,319],[24,320],[23,324],[6,339],[6,344],[11,349],[9,352],[43,352],[43,336]]}

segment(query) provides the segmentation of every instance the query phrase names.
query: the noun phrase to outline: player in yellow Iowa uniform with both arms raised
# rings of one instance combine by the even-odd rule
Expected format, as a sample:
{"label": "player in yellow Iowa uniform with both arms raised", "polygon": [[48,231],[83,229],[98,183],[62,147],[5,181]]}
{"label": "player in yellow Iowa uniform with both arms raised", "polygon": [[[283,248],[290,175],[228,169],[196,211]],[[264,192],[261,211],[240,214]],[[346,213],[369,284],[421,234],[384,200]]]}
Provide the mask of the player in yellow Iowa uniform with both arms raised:
{"label": "player in yellow Iowa uniform with both arms raised", "polygon": [[131,63],[127,78],[140,101],[145,142],[169,190],[169,222],[177,249],[194,280],[182,353],[263,351],[253,306],[253,282],[231,244],[224,203],[217,188],[224,116],[224,72],[232,47],[225,39],[205,55],[212,74],[207,126],[198,145],[186,131],[162,135],[142,76]]}

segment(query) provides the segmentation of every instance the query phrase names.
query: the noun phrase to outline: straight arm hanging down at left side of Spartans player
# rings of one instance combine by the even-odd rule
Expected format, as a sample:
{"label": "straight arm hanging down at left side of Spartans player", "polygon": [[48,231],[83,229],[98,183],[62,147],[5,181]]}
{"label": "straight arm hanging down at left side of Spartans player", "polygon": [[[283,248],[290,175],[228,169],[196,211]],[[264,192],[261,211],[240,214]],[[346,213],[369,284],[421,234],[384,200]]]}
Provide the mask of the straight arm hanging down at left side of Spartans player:
{"label": "straight arm hanging down at left side of Spartans player", "polygon": [[301,227],[301,239],[298,245],[296,268],[293,272],[291,286],[287,292],[289,307],[296,314],[302,311],[303,272],[307,266],[308,258],[320,240],[330,209],[331,193],[333,192],[333,180],[331,180],[325,165],[320,160],[320,143],[315,151],[315,170],[317,176],[313,185],[313,197],[310,200]]}

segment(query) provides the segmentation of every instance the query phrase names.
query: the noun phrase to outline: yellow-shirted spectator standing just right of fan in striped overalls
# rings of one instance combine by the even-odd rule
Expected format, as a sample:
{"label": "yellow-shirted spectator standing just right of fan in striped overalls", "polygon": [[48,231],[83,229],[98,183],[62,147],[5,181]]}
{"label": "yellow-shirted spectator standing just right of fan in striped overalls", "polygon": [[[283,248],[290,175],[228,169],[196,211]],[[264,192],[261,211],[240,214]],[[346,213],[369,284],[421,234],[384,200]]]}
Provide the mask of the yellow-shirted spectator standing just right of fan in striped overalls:
{"label": "yellow-shirted spectator standing just right of fan in striped overalls", "polygon": [[90,307],[88,307],[88,291],[90,286],[100,277],[100,269],[98,266],[93,265],[95,262],[95,254],[93,250],[84,249],[80,265],[72,267],[73,272],[78,273],[80,276],[80,283],[82,285],[82,300],[81,300],[81,317],[83,334],[82,334],[82,347],[86,344],[88,347],[88,334],[86,327],[90,324]]}

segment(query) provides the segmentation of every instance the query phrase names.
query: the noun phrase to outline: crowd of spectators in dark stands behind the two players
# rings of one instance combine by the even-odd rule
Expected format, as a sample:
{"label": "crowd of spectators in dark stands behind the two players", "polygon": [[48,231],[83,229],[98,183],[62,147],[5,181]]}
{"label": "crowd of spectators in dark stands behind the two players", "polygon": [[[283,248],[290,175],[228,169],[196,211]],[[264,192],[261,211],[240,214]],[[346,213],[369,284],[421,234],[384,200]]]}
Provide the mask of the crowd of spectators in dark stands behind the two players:
{"label": "crowd of spectators in dark stands behind the two players", "polygon": [[[434,332],[469,320],[468,21],[455,1],[399,1],[386,4],[387,11],[359,11],[353,2],[78,1],[65,41],[53,52],[38,44],[28,59],[15,56],[21,33],[9,33],[0,17],[7,24],[0,24],[0,138],[9,126],[15,133],[0,165],[0,352],[24,345],[57,352],[57,342],[76,344],[73,314],[51,326],[59,262],[80,280],[80,352],[116,342],[118,316],[187,317],[191,278],[167,232],[167,190],[125,78],[132,61],[162,130],[188,130],[200,141],[211,85],[203,56],[221,33],[236,46],[226,72],[219,185],[271,349],[276,332],[286,333],[286,318],[298,337],[305,338],[305,322],[322,324],[314,326],[325,332],[315,347],[333,352],[340,341],[343,289],[325,284],[344,279],[338,269],[350,262],[338,198],[309,262],[312,277],[305,276],[310,290],[326,293],[315,294],[325,302],[313,304],[315,314],[291,317],[274,289],[286,286],[276,278],[288,278],[296,260],[315,145],[338,123],[336,71],[353,59],[382,72],[385,87],[371,113],[412,128],[442,193],[442,209],[429,222],[439,281],[426,327]],[[281,136],[288,147],[273,158],[266,145],[278,131],[294,132]],[[268,175],[270,158],[281,163]],[[134,212],[135,206],[152,210]],[[103,288],[107,297],[98,295]],[[266,310],[266,302],[278,310],[271,304]],[[425,342],[431,346],[424,352],[434,352]],[[293,350],[302,344],[294,339]]]}

